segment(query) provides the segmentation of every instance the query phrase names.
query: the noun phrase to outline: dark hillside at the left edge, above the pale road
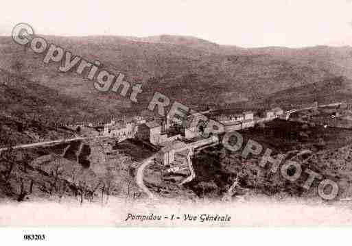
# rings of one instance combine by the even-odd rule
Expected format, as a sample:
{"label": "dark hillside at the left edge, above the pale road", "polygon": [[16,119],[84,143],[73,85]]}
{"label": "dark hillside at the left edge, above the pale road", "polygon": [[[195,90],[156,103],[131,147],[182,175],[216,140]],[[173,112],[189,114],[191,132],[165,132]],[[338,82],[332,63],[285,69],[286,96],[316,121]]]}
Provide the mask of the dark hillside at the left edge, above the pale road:
{"label": "dark hillside at the left edge, above the pale road", "polygon": [[84,112],[83,101],[0,70],[0,146],[73,136],[57,127]]}

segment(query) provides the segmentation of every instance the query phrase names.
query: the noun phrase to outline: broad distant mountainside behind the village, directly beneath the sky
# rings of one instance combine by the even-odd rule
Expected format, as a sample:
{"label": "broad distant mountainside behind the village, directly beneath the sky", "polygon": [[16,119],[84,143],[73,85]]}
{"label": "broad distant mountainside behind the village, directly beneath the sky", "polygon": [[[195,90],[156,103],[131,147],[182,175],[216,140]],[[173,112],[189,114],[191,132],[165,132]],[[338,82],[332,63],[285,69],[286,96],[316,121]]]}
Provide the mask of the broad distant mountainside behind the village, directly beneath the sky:
{"label": "broad distant mountainside behind the village, directly beneath the sky", "polygon": [[25,51],[6,37],[0,38],[0,67],[14,72],[13,64],[20,60],[21,76],[93,101],[94,108],[113,114],[145,109],[155,91],[191,107],[224,106],[340,75],[352,77],[351,47],[242,49],[167,35],[46,38],[87,60],[99,60],[111,72],[124,73],[128,81],[142,83],[141,103],[133,104],[114,93],[98,93],[91,82],[75,73],[58,73],[58,64],[47,66],[43,56]]}

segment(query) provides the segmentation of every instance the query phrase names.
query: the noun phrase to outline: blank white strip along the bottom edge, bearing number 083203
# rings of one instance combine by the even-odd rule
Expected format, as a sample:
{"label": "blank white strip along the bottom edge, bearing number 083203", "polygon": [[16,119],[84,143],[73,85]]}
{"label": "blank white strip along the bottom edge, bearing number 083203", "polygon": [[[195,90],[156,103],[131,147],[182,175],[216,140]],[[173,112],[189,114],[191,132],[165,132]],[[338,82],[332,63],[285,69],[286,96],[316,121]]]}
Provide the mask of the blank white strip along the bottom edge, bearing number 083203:
{"label": "blank white strip along the bottom edge, bearing number 083203", "polygon": [[[41,242],[23,234],[45,234]],[[349,245],[351,229],[336,228],[3,228],[1,245]]]}

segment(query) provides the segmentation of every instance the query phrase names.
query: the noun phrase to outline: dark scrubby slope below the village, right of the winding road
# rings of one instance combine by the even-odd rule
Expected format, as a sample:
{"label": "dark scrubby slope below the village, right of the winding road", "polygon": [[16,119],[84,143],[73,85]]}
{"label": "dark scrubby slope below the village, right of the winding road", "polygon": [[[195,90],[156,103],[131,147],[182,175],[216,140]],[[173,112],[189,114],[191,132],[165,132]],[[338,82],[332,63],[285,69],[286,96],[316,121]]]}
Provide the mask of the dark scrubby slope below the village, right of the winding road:
{"label": "dark scrubby slope below the village, right of the winding road", "polygon": [[[259,155],[250,154],[248,158],[241,156],[244,145],[236,152],[228,151],[221,145],[203,151],[193,162],[197,176],[189,183],[189,188],[198,195],[216,197],[226,192],[238,176],[237,195],[249,193],[278,197],[318,197],[316,188],[319,182],[314,182],[309,190],[302,188],[308,177],[304,171],[310,169],[338,183],[338,198],[351,196],[352,131],[303,125],[275,120],[267,123],[265,128],[255,127],[242,132],[244,143],[251,139],[263,146]],[[296,182],[285,180],[280,169],[275,174],[271,173],[270,164],[265,168],[259,166],[263,153],[268,148],[272,150],[273,158],[277,158],[277,153],[283,153],[286,154],[285,160],[301,164],[303,173]],[[311,152],[296,156],[307,149]]]}

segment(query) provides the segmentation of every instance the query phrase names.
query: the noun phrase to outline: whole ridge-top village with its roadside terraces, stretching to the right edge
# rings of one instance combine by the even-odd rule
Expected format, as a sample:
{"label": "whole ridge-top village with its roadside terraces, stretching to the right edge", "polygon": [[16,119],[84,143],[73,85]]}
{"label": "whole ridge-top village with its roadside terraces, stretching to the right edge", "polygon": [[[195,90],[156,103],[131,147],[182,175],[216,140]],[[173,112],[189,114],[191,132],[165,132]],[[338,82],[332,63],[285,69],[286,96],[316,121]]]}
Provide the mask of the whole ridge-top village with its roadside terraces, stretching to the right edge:
{"label": "whole ridge-top village with its roadside terraces, stretching to the right edge", "polygon": [[[168,116],[132,116],[111,119],[107,123],[81,123],[69,125],[72,129],[80,128],[81,132],[87,132],[89,136],[100,136],[113,138],[117,143],[124,140],[138,140],[145,147],[157,152],[155,162],[167,167],[167,172],[183,172],[193,175],[191,163],[192,156],[196,151],[219,144],[217,136],[204,137],[204,125],[202,121],[198,125],[192,125],[193,119],[204,115],[208,119],[214,119],[224,125],[225,132],[241,131],[262,125],[274,119],[297,121],[314,125],[326,125],[329,121],[315,122],[309,115],[314,115],[314,110],[318,108],[329,108],[329,115],[333,117],[346,116],[349,112],[348,103],[331,103],[319,105],[317,102],[302,106],[302,108],[283,110],[274,107],[271,110],[261,112],[245,111],[242,113],[225,114],[216,110],[206,110],[204,112],[188,114],[187,119],[182,124],[174,123]],[[310,110],[310,111],[309,111]],[[315,113],[317,114],[317,113]],[[307,118],[308,117],[308,118]],[[313,116],[314,117],[314,116]],[[328,117],[329,118],[329,117]],[[94,129],[94,130],[93,130]],[[106,151],[112,149],[111,143],[106,143]],[[191,178],[188,178],[188,182]]]}

